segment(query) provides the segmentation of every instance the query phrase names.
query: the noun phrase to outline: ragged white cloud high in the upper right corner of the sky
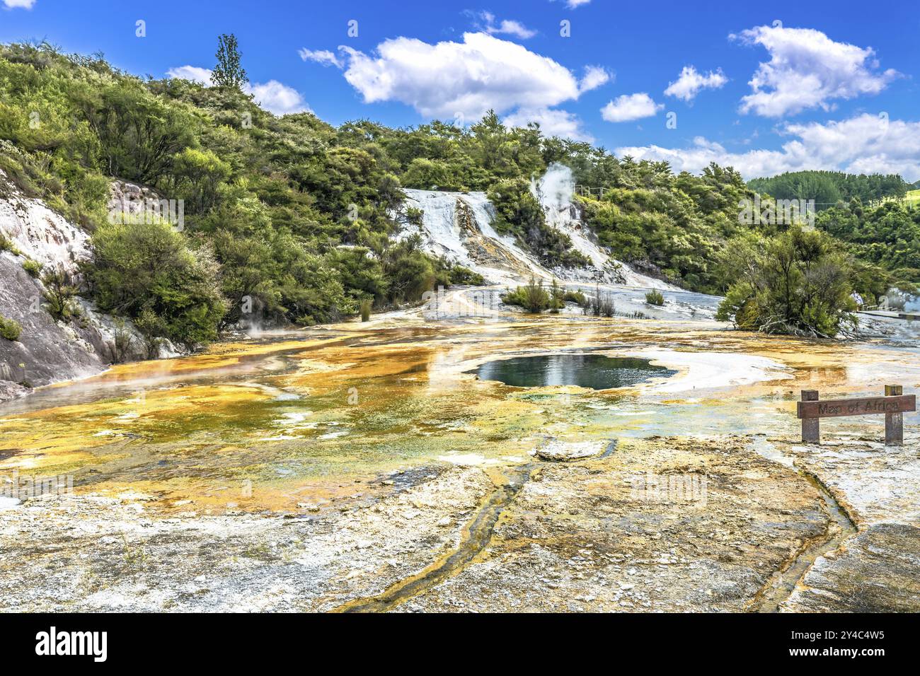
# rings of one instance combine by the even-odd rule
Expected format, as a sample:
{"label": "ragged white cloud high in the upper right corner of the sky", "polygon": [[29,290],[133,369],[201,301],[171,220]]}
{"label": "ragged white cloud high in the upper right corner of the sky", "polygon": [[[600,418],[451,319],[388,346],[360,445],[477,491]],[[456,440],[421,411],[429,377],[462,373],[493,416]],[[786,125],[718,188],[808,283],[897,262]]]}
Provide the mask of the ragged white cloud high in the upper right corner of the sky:
{"label": "ragged white cloud high in the upper right corner of the sky", "polygon": [[834,99],[878,94],[898,76],[879,70],[870,47],[835,42],[820,30],[757,26],[729,37],[761,45],[770,54],[749,82],[751,94],[742,97],[744,113],[778,118],[805,109],[830,110]]}

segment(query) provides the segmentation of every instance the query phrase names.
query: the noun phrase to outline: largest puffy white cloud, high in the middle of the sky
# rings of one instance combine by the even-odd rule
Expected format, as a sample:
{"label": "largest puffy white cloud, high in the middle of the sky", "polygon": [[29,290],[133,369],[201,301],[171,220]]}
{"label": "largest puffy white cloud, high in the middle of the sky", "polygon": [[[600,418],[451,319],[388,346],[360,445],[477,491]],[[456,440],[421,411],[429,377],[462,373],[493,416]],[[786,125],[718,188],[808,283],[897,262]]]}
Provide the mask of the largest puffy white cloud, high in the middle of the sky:
{"label": "largest puffy white cloud, high in the middle of the sky", "polygon": [[488,33],[465,33],[462,42],[429,44],[412,38],[384,40],[374,54],[339,47],[345,79],[365,103],[400,101],[427,117],[466,120],[489,109],[548,109],[575,100],[584,86],[600,86],[546,56]]}

